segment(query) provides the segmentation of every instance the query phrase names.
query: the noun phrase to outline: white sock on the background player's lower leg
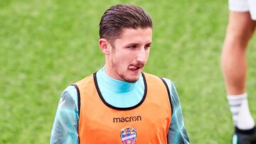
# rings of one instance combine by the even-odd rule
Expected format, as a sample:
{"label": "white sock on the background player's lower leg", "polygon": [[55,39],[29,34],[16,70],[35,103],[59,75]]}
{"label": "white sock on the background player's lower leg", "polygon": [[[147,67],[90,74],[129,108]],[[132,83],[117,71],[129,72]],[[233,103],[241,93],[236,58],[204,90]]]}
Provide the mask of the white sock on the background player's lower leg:
{"label": "white sock on the background player's lower leg", "polygon": [[228,104],[233,115],[234,125],[241,130],[249,130],[255,126],[248,107],[247,93],[228,95]]}

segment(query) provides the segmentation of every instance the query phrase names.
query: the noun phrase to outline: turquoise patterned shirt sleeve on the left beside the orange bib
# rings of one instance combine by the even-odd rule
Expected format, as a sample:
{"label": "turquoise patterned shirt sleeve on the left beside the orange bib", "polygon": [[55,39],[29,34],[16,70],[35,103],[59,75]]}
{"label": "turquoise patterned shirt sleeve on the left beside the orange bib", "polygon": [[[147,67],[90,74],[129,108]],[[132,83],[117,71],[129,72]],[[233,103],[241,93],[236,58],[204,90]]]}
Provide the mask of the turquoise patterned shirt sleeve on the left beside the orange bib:
{"label": "turquoise patterned shirt sleeve on the left beside the orange bib", "polygon": [[50,134],[50,144],[79,143],[77,96],[73,86],[63,91]]}

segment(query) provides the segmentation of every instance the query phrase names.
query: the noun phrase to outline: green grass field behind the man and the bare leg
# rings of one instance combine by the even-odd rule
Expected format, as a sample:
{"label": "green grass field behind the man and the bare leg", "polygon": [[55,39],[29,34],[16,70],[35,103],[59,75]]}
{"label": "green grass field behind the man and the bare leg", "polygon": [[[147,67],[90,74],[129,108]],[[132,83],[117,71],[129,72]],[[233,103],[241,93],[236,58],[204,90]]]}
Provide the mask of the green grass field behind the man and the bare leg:
{"label": "green grass field behind the man and the bare leg", "polygon": [[[102,13],[142,6],[154,21],[145,72],[172,79],[191,143],[230,143],[233,122],[220,52],[228,1],[0,0],[0,143],[49,143],[60,94],[104,65]],[[256,119],[255,37],[247,52],[247,92]]]}

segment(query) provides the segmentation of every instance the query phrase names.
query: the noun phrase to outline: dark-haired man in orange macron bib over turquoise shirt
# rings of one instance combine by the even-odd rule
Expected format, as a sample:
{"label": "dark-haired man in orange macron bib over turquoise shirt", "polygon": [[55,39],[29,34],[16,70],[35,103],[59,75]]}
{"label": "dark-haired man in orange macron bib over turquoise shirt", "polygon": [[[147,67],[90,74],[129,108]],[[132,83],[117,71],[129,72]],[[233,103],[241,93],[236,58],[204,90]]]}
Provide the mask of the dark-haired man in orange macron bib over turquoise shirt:
{"label": "dark-haired man in orange macron bib over turquoise shirt", "polygon": [[142,72],[152,22],[119,4],[100,21],[105,67],[64,90],[50,143],[189,143],[174,84]]}

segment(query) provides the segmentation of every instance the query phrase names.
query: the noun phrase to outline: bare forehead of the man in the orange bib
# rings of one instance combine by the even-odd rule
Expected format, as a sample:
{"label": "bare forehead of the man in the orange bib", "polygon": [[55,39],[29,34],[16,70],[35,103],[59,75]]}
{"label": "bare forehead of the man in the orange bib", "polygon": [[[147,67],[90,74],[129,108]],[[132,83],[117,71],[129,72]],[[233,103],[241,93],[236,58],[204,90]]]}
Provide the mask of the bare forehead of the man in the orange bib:
{"label": "bare forehead of the man in the orange bib", "polygon": [[122,41],[122,43],[151,43],[152,28],[123,28],[119,38],[114,41]]}

